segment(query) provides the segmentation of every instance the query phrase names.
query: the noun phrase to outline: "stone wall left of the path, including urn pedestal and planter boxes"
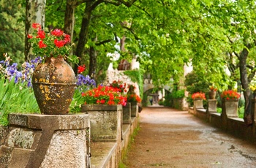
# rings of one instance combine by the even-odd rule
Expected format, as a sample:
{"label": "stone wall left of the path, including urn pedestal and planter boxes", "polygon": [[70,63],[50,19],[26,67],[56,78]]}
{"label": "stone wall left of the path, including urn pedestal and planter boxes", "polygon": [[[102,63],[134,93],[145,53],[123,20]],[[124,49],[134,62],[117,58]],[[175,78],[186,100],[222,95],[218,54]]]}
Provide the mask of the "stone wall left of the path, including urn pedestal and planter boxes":
{"label": "stone wall left of the path, including urn pedestal and planter boxes", "polygon": [[[138,107],[134,109],[128,107],[125,114],[121,106],[112,113],[10,114],[10,125],[0,129],[0,167],[118,167],[138,126]],[[105,120],[107,113],[114,123]],[[104,117],[97,119],[99,115]],[[108,131],[97,129],[105,126]]]}

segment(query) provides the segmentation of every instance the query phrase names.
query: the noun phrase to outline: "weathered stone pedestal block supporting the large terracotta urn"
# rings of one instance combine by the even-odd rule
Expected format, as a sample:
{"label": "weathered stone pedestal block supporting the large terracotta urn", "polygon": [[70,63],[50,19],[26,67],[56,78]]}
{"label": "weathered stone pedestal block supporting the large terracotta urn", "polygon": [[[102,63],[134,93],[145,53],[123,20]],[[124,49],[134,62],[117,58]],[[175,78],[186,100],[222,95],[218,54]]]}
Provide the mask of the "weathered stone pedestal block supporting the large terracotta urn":
{"label": "weathered stone pedestal block supporting the large terracotta urn", "polygon": [[10,114],[9,121],[9,133],[1,144],[8,167],[89,166],[88,115]]}

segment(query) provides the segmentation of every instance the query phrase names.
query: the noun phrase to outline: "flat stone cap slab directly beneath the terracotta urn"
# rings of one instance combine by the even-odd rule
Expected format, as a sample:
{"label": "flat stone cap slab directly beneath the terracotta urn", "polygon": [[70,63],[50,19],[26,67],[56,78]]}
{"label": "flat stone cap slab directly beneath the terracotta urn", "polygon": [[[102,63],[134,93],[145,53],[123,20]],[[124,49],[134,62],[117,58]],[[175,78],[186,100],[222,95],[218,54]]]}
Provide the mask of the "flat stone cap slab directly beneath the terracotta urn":
{"label": "flat stone cap slab directly beneath the terracotta urn", "polygon": [[17,114],[8,116],[10,125],[25,126],[29,129],[44,129],[54,126],[55,130],[86,129],[90,127],[89,115],[42,115],[42,114]]}

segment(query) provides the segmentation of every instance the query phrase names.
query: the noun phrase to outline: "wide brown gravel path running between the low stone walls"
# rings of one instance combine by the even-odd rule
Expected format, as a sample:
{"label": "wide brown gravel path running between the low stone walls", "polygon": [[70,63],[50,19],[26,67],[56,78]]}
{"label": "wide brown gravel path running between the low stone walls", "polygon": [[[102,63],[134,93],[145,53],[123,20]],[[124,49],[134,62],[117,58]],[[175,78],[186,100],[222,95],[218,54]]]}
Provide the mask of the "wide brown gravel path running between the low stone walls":
{"label": "wide brown gravel path running between the low stone walls", "polygon": [[256,167],[256,144],[215,129],[187,111],[144,107],[127,167]]}

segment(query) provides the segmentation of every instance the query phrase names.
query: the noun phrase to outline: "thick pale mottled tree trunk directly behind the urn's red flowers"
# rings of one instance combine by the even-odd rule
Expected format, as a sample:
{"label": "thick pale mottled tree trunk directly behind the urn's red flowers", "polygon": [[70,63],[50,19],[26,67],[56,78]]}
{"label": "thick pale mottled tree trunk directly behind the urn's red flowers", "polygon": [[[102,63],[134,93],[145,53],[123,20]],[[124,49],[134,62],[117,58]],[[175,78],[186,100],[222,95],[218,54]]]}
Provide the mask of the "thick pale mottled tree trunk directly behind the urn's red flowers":
{"label": "thick pale mottled tree trunk directly behind the urn's red flowers", "polygon": [[25,61],[33,58],[31,45],[28,41],[28,34],[31,34],[32,23],[41,24],[45,27],[45,4],[46,0],[26,0],[26,23],[25,23]]}

